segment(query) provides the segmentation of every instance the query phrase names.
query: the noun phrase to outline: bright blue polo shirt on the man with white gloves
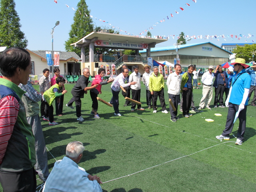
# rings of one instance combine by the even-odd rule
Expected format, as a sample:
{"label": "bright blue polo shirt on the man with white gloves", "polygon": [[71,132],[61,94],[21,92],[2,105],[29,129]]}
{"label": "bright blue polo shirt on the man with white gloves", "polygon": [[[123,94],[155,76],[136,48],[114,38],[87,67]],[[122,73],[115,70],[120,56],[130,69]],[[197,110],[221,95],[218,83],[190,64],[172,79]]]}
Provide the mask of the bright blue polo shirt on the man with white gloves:
{"label": "bright blue polo shirt on the man with white gloves", "polygon": [[[240,71],[240,73],[238,74],[236,71],[234,71],[234,76],[232,79],[232,90],[230,93],[229,102],[236,105],[240,105],[242,103],[242,99],[244,96],[244,89],[245,88],[250,89],[250,84],[251,84],[251,77],[248,73],[245,73],[245,69]],[[248,99],[246,100],[244,105],[248,105]]]}

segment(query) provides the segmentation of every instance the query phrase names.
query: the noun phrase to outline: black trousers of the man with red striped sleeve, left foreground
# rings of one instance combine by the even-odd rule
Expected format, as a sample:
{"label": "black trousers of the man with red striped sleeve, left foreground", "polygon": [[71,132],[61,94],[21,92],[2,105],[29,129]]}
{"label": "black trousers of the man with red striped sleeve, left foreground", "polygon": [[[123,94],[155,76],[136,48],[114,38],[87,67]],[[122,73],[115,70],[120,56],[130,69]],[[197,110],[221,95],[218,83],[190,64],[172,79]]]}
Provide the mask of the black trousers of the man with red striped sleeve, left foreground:
{"label": "black trousers of the man with red striped sleeve, left foreground", "polygon": [[6,192],[36,191],[36,173],[34,168],[18,173],[0,172],[0,182],[3,190]]}

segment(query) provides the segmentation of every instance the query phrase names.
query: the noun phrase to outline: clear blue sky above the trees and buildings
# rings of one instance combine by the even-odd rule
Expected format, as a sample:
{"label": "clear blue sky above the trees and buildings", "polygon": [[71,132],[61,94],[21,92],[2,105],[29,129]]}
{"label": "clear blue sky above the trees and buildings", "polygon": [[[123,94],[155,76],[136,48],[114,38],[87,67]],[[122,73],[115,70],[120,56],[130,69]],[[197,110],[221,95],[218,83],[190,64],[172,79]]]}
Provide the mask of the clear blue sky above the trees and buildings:
{"label": "clear blue sky above the trees and buildings", "polygon": [[[54,30],[54,50],[65,51],[64,42],[68,39],[70,26],[73,23],[74,10],[80,0],[14,0],[16,11],[20,16],[21,30],[28,39],[30,50],[51,50],[51,28],[57,20],[60,25]],[[190,4],[187,6],[186,3]],[[65,5],[67,4],[69,8]],[[217,35],[217,39],[192,39],[188,43],[212,42],[218,46],[222,43],[252,43],[256,42],[256,27],[254,24],[255,0],[86,0],[90,14],[107,21],[112,26],[139,34],[143,30],[153,27],[153,36],[171,36],[167,42],[157,46],[172,46],[176,35]],[[180,10],[184,8],[184,11]],[[175,13],[175,10],[179,14]],[[171,14],[173,18],[171,17]],[[169,20],[167,19],[169,17]],[[93,18],[97,26],[106,23]],[[160,20],[165,22],[155,24]],[[156,25],[156,26],[154,26]],[[109,26],[109,25],[107,25]],[[121,32],[120,34],[126,34]],[[144,33],[146,34],[146,33]],[[225,39],[220,35],[225,35]],[[242,38],[228,38],[227,35],[242,34]],[[247,38],[248,34],[254,37]],[[246,38],[244,38],[244,35]]]}

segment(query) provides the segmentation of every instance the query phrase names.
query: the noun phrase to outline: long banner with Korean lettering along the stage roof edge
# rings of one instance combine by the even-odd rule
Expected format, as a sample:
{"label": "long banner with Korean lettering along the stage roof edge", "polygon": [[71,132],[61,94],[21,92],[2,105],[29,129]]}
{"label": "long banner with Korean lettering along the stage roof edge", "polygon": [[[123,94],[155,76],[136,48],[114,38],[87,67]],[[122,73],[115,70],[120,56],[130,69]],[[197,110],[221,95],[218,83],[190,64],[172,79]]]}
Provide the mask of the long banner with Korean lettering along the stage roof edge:
{"label": "long banner with Korean lettering along the stage roof edge", "polygon": [[144,43],[131,43],[131,42],[127,43],[127,42],[107,41],[107,40],[97,40],[94,42],[94,46],[148,49],[148,44],[144,44]]}

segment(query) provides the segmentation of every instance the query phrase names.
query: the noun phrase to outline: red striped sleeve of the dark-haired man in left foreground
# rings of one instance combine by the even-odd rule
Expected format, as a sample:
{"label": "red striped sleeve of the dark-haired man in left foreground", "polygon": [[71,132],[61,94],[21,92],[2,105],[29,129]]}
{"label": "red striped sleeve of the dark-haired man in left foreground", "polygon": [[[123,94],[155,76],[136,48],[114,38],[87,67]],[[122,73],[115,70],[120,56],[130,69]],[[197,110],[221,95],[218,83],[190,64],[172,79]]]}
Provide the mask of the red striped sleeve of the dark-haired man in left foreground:
{"label": "red striped sleeve of the dark-haired man in left foreground", "polygon": [[4,158],[8,140],[16,123],[20,104],[14,96],[6,96],[0,100],[0,164]]}

